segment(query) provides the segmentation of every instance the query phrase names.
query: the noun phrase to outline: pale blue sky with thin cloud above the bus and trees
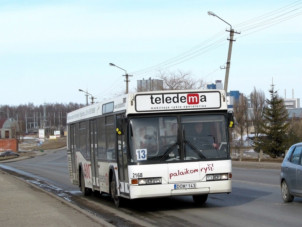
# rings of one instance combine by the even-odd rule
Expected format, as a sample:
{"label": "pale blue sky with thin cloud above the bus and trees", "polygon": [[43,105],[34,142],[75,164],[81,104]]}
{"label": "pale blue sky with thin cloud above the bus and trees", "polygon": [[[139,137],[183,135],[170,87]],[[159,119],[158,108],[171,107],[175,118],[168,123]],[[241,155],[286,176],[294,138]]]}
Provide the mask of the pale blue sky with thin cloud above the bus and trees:
{"label": "pale blue sky with thin cloud above the bus and trees", "polygon": [[2,0],[0,105],[102,101],[125,73],[130,91],[166,69],[224,83],[230,25],[228,92],[301,99],[301,14],[302,0]]}

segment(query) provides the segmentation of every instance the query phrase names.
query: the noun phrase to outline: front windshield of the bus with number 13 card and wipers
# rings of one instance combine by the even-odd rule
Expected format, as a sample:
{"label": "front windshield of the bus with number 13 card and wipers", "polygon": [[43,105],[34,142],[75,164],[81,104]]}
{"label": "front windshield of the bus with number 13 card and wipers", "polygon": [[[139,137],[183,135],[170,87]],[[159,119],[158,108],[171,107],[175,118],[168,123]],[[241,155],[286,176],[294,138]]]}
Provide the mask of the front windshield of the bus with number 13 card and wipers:
{"label": "front windshield of the bus with number 13 card and wipers", "polygon": [[130,162],[229,156],[223,114],[130,119]]}

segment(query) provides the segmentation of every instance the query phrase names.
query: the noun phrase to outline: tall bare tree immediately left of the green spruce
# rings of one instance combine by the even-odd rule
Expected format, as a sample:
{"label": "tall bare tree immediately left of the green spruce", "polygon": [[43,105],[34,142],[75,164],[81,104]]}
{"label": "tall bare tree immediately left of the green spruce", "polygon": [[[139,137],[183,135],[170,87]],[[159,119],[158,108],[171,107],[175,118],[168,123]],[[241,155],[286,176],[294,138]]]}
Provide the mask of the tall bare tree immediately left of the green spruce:
{"label": "tall bare tree immediately left of the green spruce", "polygon": [[266,107],[265,94],[262,90],[254,90],[251,94],[252,113],[251,120],[254,125],[255,141],[258,141],[259,130],[263,123],[263,113]]}

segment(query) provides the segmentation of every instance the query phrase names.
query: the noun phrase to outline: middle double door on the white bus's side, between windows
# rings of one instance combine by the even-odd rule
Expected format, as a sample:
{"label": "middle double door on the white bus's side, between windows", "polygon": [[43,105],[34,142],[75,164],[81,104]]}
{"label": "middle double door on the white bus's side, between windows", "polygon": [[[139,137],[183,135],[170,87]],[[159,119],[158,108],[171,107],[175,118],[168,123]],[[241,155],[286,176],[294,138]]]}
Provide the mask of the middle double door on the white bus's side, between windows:
{"label": "middle double door on the white bus's side, between windows", "polygon": [[92,184],[93,189],[99,189],[99,174],[98,174],[98,140],[97,140],[97,126],[96,120],[90,121],[90,161],[91,161],[91,172],[92,172]]}

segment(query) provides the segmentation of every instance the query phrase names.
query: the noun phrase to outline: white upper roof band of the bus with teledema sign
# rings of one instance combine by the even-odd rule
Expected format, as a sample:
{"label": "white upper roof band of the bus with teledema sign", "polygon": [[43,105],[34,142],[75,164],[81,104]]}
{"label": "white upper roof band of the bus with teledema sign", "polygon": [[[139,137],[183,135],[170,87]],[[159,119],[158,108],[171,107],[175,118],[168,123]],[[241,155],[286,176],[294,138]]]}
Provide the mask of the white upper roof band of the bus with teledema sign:
{"label": "white upper roof band of the bus with teledema sign", "polygon": [[227,110],[224,90],[162,90],[129,93],[67,114],[67,124],[114,112],[154,113]]}

